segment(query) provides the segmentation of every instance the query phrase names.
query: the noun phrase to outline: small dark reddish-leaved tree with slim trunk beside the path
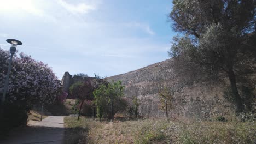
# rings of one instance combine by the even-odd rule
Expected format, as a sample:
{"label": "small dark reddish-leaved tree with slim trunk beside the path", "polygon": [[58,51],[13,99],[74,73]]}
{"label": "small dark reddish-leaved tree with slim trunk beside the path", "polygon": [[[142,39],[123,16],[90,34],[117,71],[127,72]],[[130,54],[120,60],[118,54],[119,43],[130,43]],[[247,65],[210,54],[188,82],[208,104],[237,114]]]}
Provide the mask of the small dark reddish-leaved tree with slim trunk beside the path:
{"label": "small dark reddish-leaved tree with slim trunk beside the path", "polygon": [[81,109],[85,100],[92,100],[94,87],[91,85],[90,81],[81,82],[78,81],[71,85],[69,88],[71,95],[80,100],[80,108],[78,113],[78,120],[80,118]]}

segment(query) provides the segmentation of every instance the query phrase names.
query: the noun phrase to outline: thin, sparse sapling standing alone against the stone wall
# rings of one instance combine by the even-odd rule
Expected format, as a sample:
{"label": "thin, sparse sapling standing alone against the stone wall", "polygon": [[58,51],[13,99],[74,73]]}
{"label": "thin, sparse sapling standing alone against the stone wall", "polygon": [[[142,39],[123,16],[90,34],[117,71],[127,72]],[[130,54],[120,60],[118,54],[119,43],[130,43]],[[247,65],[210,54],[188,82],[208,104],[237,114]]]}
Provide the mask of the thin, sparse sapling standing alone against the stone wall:
{"label": "thin, sparse sapling standing alone against the stone wall", "polygon": [[162,89],[159,93],[159,108],[160,110],[164,110],[166,112],[166,120],[169,121],[168,118],[168,110],[173,108],[172,99],[174,92],[170,92],[166,87]]}

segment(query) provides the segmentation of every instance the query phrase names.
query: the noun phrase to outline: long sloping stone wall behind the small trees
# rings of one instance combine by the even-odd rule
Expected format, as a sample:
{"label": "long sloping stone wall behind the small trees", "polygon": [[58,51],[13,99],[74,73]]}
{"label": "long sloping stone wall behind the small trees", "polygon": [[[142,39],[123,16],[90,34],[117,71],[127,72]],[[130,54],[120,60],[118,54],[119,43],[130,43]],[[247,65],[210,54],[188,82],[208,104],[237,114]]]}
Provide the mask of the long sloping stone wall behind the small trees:
{"label": "long sloping stone wall behind the small trees", "polygon": [[234,112],[234,105],[223,97],[226,89],[224,85],[209,86],[205,83],[186,86],[179,83],[171,59],[107,77],[107,80],[121,80],[125,85],[125,97],[136,96],[139,99],[139,114],[144,117],[164,116],[164,112],[158,109],[158,92],[163,87],[175,92],[171,115],[206,119]]}

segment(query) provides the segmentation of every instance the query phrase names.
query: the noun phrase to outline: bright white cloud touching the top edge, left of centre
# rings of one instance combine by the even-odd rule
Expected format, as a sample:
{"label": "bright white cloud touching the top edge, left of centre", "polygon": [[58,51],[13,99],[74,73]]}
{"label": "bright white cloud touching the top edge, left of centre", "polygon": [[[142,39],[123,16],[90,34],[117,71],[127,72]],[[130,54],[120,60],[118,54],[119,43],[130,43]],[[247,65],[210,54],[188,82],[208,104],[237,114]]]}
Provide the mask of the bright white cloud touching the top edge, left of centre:
{"label": "bright white cloud touching the top edge, left of centre", "polygon": [[73,5],[73,4],[67,3],[63,0],[59,0],[57,2],[59,2],[59,4],[63,8],[65,8],[66,10],[71,12],[72,14],[86,14],[90,10],[95,10],[96,9],[96,7],[94,5],[89,5],[89,4],[85,4],[85,3],[79,3],[77,5]]}

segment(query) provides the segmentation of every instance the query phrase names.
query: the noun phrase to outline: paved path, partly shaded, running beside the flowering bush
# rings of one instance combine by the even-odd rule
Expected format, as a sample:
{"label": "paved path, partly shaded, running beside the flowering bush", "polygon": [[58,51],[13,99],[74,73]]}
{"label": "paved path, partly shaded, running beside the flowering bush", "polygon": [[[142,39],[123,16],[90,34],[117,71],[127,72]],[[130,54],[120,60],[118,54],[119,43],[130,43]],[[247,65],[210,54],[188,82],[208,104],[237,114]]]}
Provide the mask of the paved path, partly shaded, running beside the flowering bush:
{"label": "paved path, partly shaded, running beside the flowering bush", "polygon": [[25,128],[11,131],[8,139],[0,143],[32,144],[32,143],[63,143],[64,121],[62,116],[49,116],[42,122],[33,122]]}

